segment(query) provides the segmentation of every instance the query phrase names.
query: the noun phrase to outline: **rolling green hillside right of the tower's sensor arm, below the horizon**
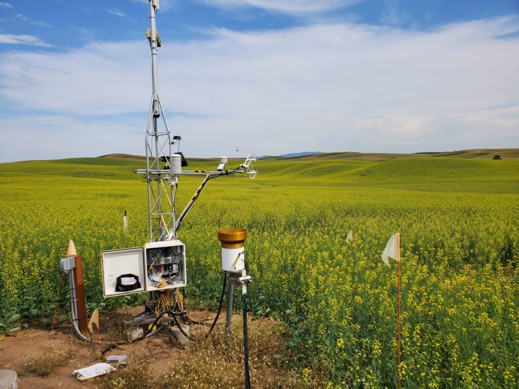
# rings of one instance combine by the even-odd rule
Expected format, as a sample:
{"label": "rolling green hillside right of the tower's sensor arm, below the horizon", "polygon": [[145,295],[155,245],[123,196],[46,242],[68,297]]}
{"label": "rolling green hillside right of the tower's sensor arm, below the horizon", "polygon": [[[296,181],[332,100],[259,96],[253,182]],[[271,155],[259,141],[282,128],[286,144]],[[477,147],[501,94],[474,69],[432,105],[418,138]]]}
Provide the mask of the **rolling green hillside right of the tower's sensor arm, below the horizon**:
{"label": "rolling green hillside right of the tower's sensor arm, below the horizon", "polygon": [[519,189],[519,161],[468,158],[398,158],[264,161],[261,182],[272,185],[370,186],[414,190],[512,193]]}

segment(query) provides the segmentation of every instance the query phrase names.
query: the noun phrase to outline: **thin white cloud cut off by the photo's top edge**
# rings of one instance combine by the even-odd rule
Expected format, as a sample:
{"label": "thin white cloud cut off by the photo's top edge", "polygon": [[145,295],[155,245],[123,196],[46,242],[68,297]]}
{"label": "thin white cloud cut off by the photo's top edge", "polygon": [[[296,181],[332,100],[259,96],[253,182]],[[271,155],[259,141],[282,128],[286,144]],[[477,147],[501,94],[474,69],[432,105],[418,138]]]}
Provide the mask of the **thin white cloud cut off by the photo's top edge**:
{"label": "thin white cloud cut off by the photo's top edge", "polygon": [[278,12],[324,11],[349,6],[361,0],[199,0],[221,8],[257,7]]}

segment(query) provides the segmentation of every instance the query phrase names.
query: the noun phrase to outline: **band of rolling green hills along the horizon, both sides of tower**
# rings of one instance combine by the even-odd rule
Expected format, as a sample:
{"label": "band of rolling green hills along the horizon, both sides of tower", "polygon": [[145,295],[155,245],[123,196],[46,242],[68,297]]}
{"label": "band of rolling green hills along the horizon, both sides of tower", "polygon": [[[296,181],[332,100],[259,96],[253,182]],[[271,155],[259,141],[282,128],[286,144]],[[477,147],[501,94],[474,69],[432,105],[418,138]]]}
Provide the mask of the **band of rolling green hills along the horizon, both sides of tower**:
{"label": "band of rolling green hills along the horizon, both sides of tower", "polygon": [[[504,153],[502,153],[504,154]],[[465,155],[465,154],[464,154]],[[318,155],[319,157],[321,155]],[[392,155],[394,156],[394,155]],[[426,191],[519,192],[519,161],[446,158],[440,155],[414,155],[383,162],[353,159],[280,159],[257,163],[260,174],[252,187],[358,186],[394,187]],[[141,159],[67,158],[0,164],[2,176],[65,176],[77,178],[141,179],[134,169],[144,168]],[[215,159],[190,159],[193,170],[214,170]],[[241,160],[230,160],[228,167]],[[243,179],[244,177],[235,177]],[[186,177],[196,182],[196,177]]]}

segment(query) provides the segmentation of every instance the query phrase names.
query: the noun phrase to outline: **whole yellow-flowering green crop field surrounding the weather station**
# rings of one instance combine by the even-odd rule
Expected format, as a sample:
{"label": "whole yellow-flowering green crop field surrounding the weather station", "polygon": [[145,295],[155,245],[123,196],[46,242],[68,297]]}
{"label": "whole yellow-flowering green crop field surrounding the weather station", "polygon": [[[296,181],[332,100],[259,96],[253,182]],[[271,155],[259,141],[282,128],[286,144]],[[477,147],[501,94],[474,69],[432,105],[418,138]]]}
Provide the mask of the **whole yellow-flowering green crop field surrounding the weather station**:
{"label": "whole yellow-flowering green crop field surrounding the weather station", "polygon": [[[142,299],[104,300],[100,259],[147,241],[146,185],[133,174],[141,167],[105,158],[0,165],[3,311],[52,317],[69,238],[83,256],[89,308]],[[289,367],[303,382],[397,387],[397,267],[380,254],[400,232],[403,387],[519,385],[519,161],[267,160],[258,168],[255,180],[212,180],[181,227],[189,298],[215,304],[216,232],[246,228],[251,309],[288,324]],[[199,181],[182,177],[177,204]]]}

